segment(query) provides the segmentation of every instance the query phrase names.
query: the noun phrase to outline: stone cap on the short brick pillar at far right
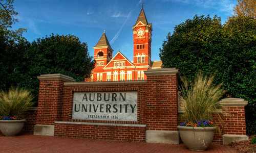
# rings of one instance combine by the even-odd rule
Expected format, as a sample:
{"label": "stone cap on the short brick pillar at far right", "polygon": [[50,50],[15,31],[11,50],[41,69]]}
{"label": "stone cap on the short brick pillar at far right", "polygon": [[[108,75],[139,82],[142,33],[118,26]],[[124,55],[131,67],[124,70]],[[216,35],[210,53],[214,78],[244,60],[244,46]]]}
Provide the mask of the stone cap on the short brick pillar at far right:
{"label": "stone cap on the short brick pillar at far right", "polygon": [[223,107],[244,107],[248,104],[248,101],[242,98],[225,98],[220,100],[220,104]]}

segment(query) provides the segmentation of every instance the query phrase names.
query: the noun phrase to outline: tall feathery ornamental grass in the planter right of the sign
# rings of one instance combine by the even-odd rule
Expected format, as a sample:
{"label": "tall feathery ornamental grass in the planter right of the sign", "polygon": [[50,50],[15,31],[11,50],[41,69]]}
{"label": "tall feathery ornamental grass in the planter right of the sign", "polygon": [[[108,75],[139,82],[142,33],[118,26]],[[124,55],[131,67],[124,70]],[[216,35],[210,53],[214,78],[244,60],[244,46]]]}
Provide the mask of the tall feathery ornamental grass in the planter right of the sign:
{"label": "tall feathery ornamental grass in the planter right of the sign", "polygon": [[[218,113],[222,109],[220,98],[226,92],[222,84],[214,84],[214,75],[204,76],[200,71],[191,83],[185,77],[181,78],[183,86],[180,87],[184,113],[181,118],[191,125],[205,127],[203,121],[212,121],[213,115],[221,120]],[[186,122],[181,126],[186,126]],[[213,122],[213,121],[212,121]],[[214,124],[209,124],[214,126]],[[194,126],[194,127],[195,127]]]}

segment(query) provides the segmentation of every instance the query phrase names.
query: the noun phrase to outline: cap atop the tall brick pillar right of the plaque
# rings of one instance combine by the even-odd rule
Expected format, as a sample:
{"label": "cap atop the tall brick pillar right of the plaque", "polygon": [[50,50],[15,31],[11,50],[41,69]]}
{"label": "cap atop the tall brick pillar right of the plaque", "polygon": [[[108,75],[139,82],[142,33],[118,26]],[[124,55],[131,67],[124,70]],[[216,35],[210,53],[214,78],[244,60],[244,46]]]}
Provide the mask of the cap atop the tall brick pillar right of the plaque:
{"label": "cap atop the tall brick pillar right of the plaque", "polygon": [[159,68],[159,69],[147,69],[144,74],[148,75],[162,75],[162,74],[177,74],[179,69],[177,68]]}

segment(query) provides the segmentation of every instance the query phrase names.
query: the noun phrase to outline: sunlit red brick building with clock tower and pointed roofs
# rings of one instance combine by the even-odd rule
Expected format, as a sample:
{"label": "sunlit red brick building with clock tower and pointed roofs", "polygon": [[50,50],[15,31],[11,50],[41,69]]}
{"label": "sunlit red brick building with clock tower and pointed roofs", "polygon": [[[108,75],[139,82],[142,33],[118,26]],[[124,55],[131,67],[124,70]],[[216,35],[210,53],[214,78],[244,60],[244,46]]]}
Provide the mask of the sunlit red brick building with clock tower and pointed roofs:
{"label": "sunlit red brick building with clock tower and pointed roofs", "polygon": [[127,59],[120,51],[113,56],[105,32],[94,46],[95,68],[91,81],[125,81],[146,80],[144,70],[161,68],[162,61],[151,61],[152,23],[148,23],[143,7],[133,26],[134,52],[133,61]]}

